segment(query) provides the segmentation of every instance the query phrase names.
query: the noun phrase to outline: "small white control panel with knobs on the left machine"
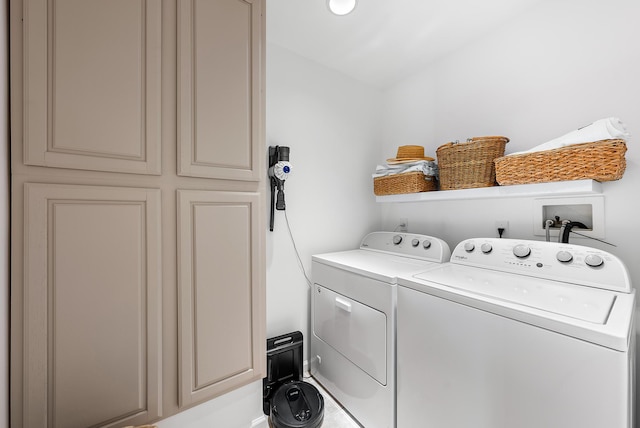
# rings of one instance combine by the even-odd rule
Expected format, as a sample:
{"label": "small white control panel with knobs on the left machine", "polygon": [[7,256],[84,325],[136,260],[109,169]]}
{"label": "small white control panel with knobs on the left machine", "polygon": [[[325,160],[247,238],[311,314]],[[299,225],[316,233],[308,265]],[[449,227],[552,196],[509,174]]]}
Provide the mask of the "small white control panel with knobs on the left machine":
{"label": "small white control panel with knobs on the left machine", "polygon": [[438,263],[451,257],[449,244],[440,238],[415,233],[373,232],[362,240],[360,249],[402,255]]}

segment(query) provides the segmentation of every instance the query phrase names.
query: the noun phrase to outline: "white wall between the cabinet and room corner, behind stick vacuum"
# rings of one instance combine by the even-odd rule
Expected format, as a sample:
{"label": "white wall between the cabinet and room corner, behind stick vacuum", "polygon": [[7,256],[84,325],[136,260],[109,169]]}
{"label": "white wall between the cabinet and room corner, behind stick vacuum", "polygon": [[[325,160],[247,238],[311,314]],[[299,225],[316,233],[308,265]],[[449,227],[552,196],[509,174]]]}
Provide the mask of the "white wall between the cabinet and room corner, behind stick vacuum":
{"label": "white wall between the cabinet and room corner, behind stick vacuum", "polygon": [[[267,145],[289,146],[287,216],[307,275],[313,254],[356,248],[380,228],[371,173],[379,162],[382,94],[267,45]],[[309,288],[285,221],[267,232],[267,336],[309,337]]]}

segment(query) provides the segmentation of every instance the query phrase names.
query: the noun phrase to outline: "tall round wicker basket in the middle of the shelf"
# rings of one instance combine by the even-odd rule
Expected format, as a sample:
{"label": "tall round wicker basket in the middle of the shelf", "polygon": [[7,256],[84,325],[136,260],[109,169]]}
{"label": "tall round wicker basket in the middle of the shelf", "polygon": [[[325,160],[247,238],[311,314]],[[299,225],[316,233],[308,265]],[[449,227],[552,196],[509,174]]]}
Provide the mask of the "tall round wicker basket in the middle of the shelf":
{"label": "tall round wicker basket in the middle of the shelf", "polygon": [[507,137],[474,137],[466,143],[447,143],[436,150],[440,190],[496,185],[493,161],[504,156]]}

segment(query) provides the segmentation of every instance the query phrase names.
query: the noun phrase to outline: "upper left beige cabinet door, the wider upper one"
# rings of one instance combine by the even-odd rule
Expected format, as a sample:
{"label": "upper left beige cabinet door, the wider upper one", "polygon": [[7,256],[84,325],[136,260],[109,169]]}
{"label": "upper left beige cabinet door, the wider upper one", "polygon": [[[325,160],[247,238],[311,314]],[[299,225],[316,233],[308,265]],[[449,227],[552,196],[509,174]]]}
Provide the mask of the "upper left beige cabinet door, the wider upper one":
{"label": "upper left beige cabinet door, the wider upper one", "polygon": [[27,165],[160,174],[161,17],[160,0],[24,1]]}

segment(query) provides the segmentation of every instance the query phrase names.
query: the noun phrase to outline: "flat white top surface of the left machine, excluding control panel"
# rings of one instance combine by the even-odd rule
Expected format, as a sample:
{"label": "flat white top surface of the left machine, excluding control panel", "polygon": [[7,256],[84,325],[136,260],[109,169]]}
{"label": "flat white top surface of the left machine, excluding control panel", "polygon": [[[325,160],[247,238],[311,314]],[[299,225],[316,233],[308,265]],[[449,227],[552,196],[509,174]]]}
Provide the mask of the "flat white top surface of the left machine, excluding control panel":
{"label": "flat white top surface of the left machine, excluding control panel", "polygon": [[440,266],[425,260],[369,250],[317,254],[312,257],[312,260],[388,284],[396,284],[399,275],[411,275],[433,266]]}

